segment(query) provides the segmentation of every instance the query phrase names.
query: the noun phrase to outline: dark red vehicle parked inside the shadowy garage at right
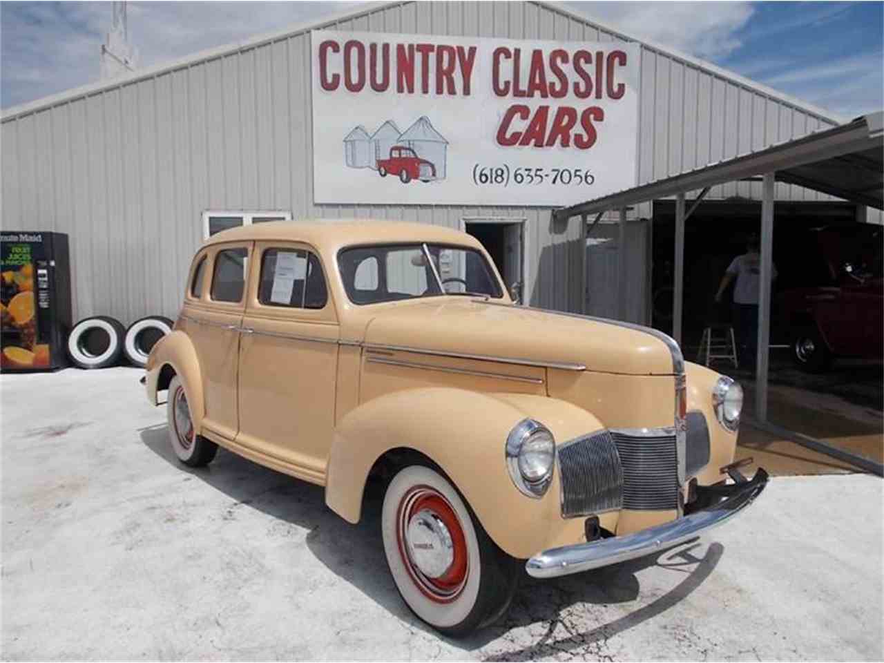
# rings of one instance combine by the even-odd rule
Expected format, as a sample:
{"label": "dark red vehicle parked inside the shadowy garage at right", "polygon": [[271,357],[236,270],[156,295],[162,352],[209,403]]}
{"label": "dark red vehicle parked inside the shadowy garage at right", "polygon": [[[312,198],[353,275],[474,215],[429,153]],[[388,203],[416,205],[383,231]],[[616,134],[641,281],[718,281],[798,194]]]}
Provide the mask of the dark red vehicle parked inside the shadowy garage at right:
{"label": "dark red vehicle parked inside the shadowy garage at right", "polygon": [[822,228],[803,247],[806,285],[784,289],[776,315],[796,364],[827,370],[836,356],[884,358],[884,232],[873,226]]}

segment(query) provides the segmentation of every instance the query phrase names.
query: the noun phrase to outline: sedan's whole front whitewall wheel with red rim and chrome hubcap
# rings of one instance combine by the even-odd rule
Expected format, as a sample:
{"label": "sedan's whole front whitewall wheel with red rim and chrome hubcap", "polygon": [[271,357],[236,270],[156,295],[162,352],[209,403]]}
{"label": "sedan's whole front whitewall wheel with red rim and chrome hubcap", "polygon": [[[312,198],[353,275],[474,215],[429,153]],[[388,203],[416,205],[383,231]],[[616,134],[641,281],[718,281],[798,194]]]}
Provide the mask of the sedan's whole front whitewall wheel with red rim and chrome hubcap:
{"label": "sedan's whole front whitewall wheel with red rim and chrome hubcap", "polygon": [[392,478],[381,527],[400,596],[432,627],[465,636],[507,610],[519,562],[494,545],[435,469],[411,465]]}

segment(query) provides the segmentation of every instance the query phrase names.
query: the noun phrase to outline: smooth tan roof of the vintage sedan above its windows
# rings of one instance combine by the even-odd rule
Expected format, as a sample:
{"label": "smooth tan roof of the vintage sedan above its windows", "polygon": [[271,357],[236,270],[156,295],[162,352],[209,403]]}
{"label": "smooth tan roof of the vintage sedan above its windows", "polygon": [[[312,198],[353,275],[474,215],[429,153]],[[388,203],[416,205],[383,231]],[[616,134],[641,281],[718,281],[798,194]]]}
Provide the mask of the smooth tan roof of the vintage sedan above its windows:
{"label": "smooth tan roof of the vintage sedan above its windows", "polygon": [[336,253],[340,248],[365,244],[431,242],[479,248],[478,240],[466,232],[441,225],[406,221],[309,219],[269,221],[240,225],[212,235],[203,247],[231,241],[301,241],[320,251]]}

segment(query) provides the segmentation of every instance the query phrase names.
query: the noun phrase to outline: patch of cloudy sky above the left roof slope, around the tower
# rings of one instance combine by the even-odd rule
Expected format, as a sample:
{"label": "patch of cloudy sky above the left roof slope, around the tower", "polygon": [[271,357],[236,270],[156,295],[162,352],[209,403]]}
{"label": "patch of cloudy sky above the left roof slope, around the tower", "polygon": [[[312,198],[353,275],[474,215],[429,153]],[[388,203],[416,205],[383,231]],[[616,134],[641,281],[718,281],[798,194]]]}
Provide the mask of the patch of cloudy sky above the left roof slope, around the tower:
{"label": "patch of cloudy sky above the left roof slope, around the tower", "polygon": [[[149,66],[344,11],[355,2],[128,3],[129,41]],[[0,4],[4,108],[98,80],[110,3]]]}

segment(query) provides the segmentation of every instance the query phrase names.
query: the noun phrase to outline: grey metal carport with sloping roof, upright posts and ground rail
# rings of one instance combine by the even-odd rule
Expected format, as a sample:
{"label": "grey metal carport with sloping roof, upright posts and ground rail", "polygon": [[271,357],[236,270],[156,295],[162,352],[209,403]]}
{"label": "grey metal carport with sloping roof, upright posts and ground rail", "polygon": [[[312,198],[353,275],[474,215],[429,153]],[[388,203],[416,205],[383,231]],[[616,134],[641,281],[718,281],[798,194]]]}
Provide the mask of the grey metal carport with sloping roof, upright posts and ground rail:
{"label": "grey metal carport with sloping roof, upright posts and ground rail", "polygon": [[[810,133],[794,141],[786,141],[743,156],[709,164],[666,179],[658,179],[639,187],[594,200],[581,202],[553,212],[556,221],[582,217],[585,236],[588,215],[599,217],[606,211],[619,210],[621,226],[626,208],[641,202],[675,196],[675,265],[673,336],[682,341],[682,286],[684,273],[684,223],[710,187],[726,182],[763,176],[761,202],[761,290],[758,293],[758,357],[755,393],[757,423],[786,435],[817,451],[829,453],[881,476],[879,462],[847,453],[819,440],[792,431],[784,431],[767,421],[767,359],[770,336],[771,264],[773,254],[773,185],[776,180],[797,184],[831,194],[860,205],[884,210],[884,111],[831,129]],[[697,202],[685,213],[685,194],[700,191]],[[621,227],[621,238],[625,240]],[[621,244],[622,246],[622,244]],[[585,251],[582,252],[585,259]],[[625,276],[622,270],[621,282]],[[585,275],[585,265],[583,274]],[[585,278],[585,276],[583,277]]]}

